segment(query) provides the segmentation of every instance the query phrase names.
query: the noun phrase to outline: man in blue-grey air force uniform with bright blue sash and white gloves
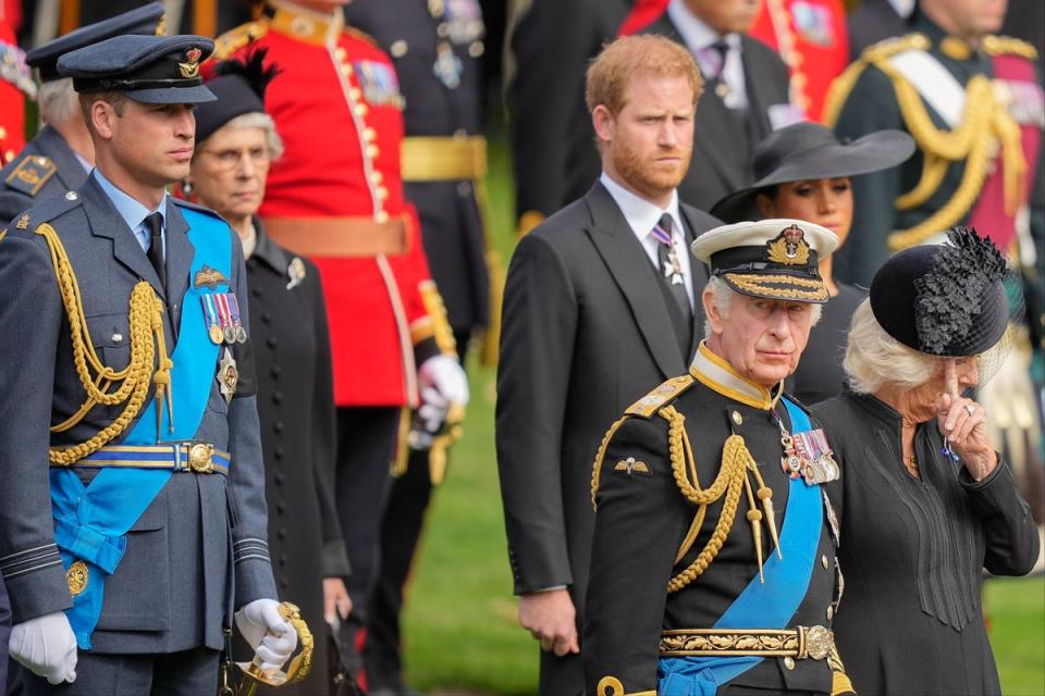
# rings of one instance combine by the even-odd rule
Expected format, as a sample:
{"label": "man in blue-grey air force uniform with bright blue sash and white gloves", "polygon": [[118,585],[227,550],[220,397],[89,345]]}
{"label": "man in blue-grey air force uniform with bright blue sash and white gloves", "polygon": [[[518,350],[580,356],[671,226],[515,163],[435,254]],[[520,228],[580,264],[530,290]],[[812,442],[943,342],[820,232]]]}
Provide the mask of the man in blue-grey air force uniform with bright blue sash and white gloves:
{"label": "man in blue-grey air force uniform with bright blue sash and white gloves", "polygon": [[188,174],[212,49],[63,55],[97,169],[0,233],[0,573],[29,693],[212,694],[232,609],[260,669],[297,643],[266,543],[243,252],[164,189]]}

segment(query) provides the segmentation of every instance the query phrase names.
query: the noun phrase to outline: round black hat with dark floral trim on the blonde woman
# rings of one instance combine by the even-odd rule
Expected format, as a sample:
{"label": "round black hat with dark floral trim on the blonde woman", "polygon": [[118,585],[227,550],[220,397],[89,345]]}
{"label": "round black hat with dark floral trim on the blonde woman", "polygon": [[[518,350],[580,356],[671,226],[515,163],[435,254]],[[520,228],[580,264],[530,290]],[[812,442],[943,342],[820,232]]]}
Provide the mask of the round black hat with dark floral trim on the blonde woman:
{"label": "round black hat with dark floral trim on the blonde woman", "polygon": [[871,311],[893,338],[948,358],[982,353],[1005,335],[1009,300],[998,248],[972,227],[947,241],[911,247],[886,261],[871,282]]}

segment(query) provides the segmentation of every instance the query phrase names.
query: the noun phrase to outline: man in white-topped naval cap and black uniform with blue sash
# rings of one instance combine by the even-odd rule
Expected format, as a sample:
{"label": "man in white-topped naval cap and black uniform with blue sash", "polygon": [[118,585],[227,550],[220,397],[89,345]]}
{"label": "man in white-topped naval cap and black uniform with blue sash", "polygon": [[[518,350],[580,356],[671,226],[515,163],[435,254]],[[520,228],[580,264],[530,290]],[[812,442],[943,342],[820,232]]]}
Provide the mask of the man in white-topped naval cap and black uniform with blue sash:
{"label": "man in white-topped naval cap and black uniform with blue sash", "polygon": [[836,244],[796,220],[692,244],[712,273],[705,339],[595,456],[589,694],[851,691],[831,633],[841,582],[823,486],[839,471],[783,394],[828,298],[817,260]]}

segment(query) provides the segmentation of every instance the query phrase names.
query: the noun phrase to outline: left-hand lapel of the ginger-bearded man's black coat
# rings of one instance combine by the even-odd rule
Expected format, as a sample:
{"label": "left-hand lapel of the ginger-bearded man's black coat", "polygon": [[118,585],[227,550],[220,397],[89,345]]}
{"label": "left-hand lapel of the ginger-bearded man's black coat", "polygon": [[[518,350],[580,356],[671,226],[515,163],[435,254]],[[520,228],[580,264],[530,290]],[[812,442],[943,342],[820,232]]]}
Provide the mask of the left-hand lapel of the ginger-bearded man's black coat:
{"label": "left-hand lapel of the ginger-bearded man's black coat", "polygon": [[588,236],[627,298],[650,355],[665,378],[683,374],[686,365],[678,351],[675,327],[646,250],[602,184],[595,183],[585,200],[592,219]]}

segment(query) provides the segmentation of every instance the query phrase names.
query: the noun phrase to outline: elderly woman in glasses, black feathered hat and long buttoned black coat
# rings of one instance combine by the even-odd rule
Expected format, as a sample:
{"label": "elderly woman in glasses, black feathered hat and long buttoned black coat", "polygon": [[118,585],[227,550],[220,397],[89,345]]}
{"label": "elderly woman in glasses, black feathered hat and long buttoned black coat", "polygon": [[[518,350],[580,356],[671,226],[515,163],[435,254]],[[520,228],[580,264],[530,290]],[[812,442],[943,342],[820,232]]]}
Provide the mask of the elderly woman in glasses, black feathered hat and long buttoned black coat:
{"label": "elderly woman in glasses, black feathered hat and long buttoned black coat", "polygon": [[[278,246],[255,216],[269,164],[283,144],[265,112],[265,51],[219,63],[207,86],[218,97],[196,111],[196,151],[186,195],[218,211],[247,260],[258,414],[269,509],[269,550],[280,598],[293,601],[317,635],[324,619],[352,609],[348,559],[332,498],[334,400],[330,338],[319,273]],[[316,641],[311,675],[280,694],[327,693],[327,642]]]}

